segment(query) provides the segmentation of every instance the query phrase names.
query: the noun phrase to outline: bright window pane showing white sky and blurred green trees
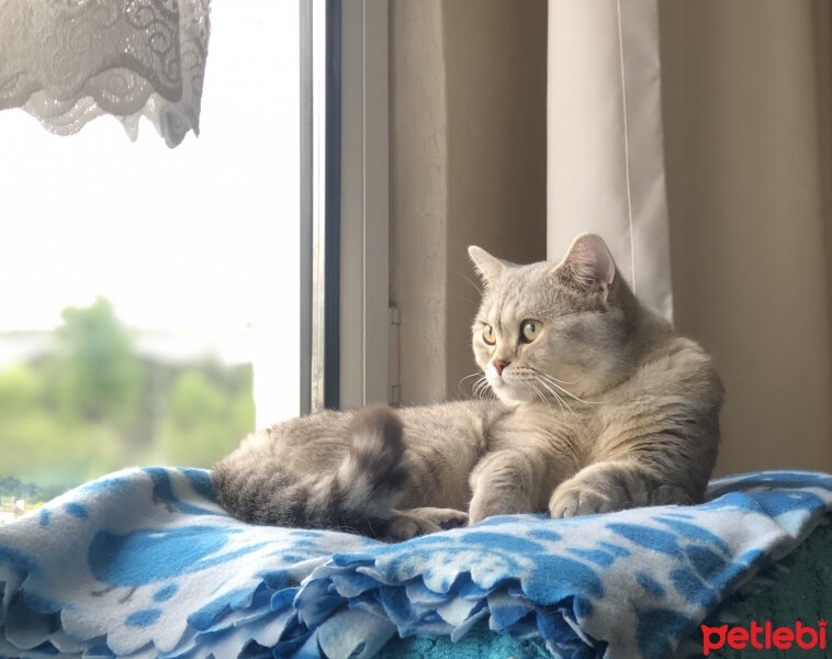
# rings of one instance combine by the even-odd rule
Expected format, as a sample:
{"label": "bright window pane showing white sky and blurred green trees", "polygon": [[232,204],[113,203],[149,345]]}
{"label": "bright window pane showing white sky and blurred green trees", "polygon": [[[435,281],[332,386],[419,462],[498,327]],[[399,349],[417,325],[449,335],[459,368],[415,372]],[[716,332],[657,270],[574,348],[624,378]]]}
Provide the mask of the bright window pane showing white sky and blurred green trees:
{"label": "bright window pane showing white sky and blurred green trees", "polygon": [[299,2],[212,7],[201,136],[0,112],[0,515],[300,409]]}

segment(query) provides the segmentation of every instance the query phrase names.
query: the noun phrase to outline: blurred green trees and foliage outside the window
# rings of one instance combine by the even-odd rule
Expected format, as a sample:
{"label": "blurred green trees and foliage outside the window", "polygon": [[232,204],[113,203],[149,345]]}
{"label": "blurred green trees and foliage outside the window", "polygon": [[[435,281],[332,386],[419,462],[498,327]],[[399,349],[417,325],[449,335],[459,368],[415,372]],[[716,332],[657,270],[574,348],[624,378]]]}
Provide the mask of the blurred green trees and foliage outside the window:
{"label": "blurred green trees and foliage outside the window", "polygon": [[135,465],[210,467],[254,429],[250,366],[143,359],[103,298],[63,317],[54,355],[0,370],[0,495],[47,500]]}

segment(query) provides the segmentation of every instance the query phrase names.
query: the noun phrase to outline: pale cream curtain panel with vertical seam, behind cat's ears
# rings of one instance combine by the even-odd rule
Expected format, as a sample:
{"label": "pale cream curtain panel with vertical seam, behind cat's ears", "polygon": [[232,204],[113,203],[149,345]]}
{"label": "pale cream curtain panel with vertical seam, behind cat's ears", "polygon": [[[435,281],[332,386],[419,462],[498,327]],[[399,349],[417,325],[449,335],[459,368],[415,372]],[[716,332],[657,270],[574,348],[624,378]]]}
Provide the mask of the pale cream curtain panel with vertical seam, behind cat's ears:
{"label": "pale cream curtain panel with vertical seam, behind cat's ears", "polygon": [[549,0],[549,258],[593,231],[673,317],[656,0]]}

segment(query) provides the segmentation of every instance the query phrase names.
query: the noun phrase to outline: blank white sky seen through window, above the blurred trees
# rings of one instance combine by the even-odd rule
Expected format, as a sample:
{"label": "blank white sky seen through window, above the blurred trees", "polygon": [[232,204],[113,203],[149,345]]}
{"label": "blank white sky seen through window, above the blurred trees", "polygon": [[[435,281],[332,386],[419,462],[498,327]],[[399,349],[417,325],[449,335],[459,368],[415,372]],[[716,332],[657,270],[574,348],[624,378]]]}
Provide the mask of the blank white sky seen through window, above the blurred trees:
{"label": "blank white sky seen through window, above the blurred trees", "polygon": [[297,2],[214,0],[211,24],[201,134],[175,149],[145,120],[132,143],[0,112],[0,339],[99,294],[136,328],[252,328],[259,389],[289,401],[260,423],[296,413]]}

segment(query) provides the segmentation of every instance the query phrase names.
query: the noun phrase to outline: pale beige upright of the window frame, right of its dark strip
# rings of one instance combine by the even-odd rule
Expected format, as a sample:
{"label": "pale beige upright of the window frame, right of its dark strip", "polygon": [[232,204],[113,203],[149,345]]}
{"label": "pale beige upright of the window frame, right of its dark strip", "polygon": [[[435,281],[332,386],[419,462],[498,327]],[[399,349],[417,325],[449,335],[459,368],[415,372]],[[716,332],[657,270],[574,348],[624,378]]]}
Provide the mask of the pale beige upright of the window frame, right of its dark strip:
{"label": "pale beige upright of the window frame, right of its dark strip", "polygon": [[[389,3],[341,0],[340,12],[338,406],[355,409],[392,401],[387,375]],[[321,300],[313,302],[313,310],[317,308]],[[313,350],[323,346],[319,332],[313,346]],[[312,391],[312,411],[323,409],[323,388],[315,383],[315,369]]]}

